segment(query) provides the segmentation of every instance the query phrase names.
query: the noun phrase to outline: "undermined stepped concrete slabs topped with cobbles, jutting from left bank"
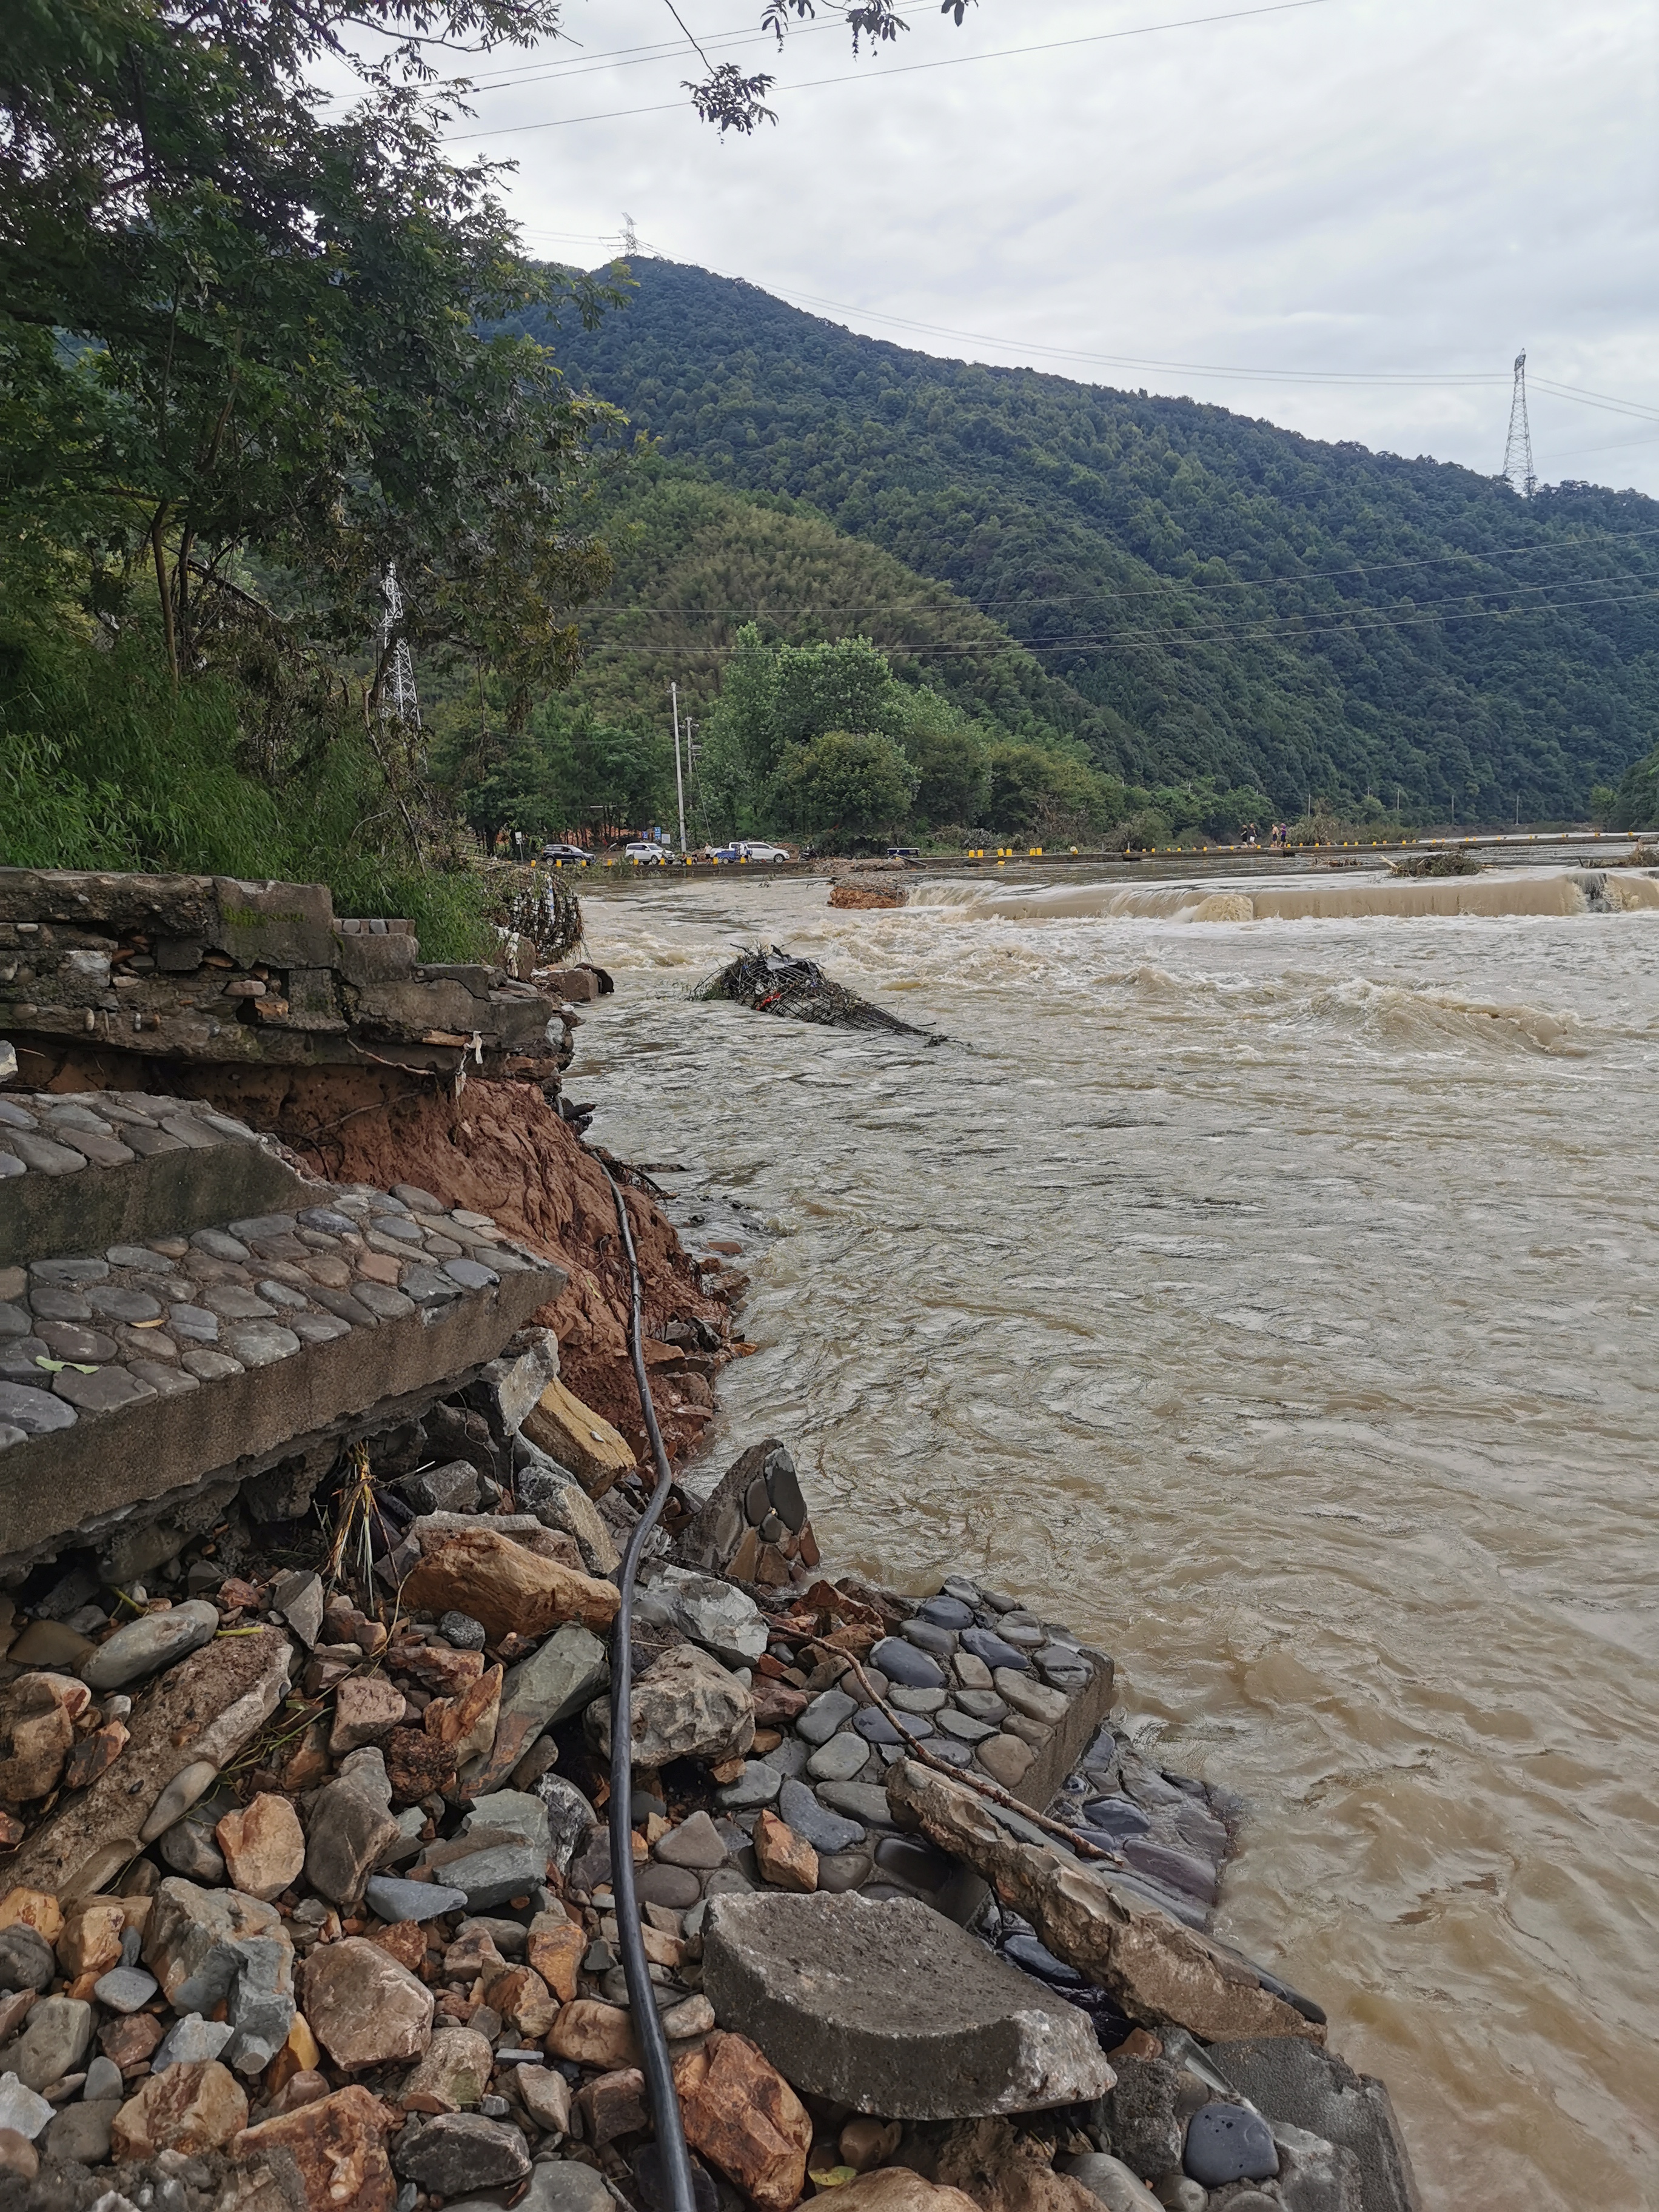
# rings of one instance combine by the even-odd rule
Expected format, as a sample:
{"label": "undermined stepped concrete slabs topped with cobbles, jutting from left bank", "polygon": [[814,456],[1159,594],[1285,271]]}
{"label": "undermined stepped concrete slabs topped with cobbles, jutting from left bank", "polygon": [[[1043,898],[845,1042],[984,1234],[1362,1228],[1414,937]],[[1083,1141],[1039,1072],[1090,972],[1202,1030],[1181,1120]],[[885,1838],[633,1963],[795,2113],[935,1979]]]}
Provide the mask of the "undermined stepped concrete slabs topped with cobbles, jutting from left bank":
{"label": "undermined stepped concrete slabs topped with cobbles, jutting from left bank", "polygon": [[303,1513],[345,1442],[471,1385],[566,1281],[484,1214],[314,1183],[173,1097],[9,1091],[7,1157],[7,1579],[71,1535],[142,1571],[135,1528],[279,1469],[254,1517]]}

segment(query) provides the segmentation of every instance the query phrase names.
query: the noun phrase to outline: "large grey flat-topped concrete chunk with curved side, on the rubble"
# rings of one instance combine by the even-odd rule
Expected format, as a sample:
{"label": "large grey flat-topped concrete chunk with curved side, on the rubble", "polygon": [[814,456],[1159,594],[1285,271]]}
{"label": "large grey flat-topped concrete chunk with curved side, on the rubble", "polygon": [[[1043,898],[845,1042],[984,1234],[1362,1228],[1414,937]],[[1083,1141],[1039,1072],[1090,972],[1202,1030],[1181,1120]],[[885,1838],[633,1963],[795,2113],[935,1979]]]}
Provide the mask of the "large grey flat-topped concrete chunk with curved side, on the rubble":
{"label": "large grey flat-topped concrete chunk with curved side, on the rubble", "polygon": [[1033,2112],[1113,2086],[1086,2013],[911,1898],[710,1898],[703,1993],[787,2081],[860,2112]]}

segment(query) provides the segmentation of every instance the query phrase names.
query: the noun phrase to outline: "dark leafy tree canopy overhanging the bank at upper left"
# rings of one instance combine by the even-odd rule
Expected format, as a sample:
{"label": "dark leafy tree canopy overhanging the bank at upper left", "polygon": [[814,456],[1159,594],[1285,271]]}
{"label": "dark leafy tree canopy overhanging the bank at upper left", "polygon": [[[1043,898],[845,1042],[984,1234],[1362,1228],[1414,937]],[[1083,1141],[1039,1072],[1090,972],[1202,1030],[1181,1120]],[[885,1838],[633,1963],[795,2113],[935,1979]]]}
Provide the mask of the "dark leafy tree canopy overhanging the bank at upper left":
{"label": "dark leafy tree canopy overhanging the bank at upper left", "polygon": [[[416,644],[524,688],[575,661],[606,580],[580,529],[613,416],[551,354],[482,336],[615,288],[515,254],[487,166],[438,144],[427,38],[544,35],[551,0],[20,0],[0,38],[0,480],[7,586],[119,622],[155,577],[175,679],[281,613],[361,650],[396,564]],[[345,113],[305,82],[405,38]],[[281,608],[248,555],[285,575]],[[380,661],[369,672],[378,684]]]}

